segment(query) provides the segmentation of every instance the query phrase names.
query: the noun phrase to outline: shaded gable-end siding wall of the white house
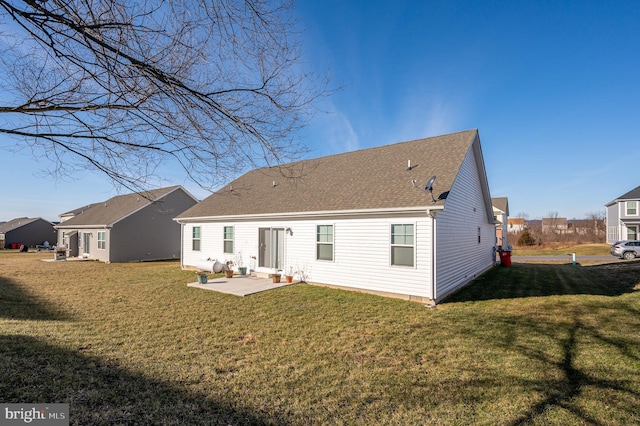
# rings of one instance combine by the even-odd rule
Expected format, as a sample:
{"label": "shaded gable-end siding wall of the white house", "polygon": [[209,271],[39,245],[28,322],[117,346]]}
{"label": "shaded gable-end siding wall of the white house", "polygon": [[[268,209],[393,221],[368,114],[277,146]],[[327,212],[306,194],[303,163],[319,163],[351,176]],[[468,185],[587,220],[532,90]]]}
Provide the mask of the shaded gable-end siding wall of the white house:
{"label": "shaded gable-end siding wall of the white house", "polygon": [[[471,150],[436,217],[437,294],[439,301],[495,262],[495,226],[487,217],[480,177]],[[480,228],[480,243],[478,243]]]}

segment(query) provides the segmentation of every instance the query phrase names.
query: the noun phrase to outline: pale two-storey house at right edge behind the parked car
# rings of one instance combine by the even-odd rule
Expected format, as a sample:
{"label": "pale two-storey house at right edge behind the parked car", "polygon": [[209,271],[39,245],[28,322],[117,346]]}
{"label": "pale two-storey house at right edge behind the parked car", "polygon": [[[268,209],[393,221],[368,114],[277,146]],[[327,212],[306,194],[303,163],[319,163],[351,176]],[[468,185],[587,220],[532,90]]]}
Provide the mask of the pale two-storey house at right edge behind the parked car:
{"label": "pale two-storey house at right edge behind the parked car", "polygon": [[640,186],[605,205],[607,242],[640,239]]}

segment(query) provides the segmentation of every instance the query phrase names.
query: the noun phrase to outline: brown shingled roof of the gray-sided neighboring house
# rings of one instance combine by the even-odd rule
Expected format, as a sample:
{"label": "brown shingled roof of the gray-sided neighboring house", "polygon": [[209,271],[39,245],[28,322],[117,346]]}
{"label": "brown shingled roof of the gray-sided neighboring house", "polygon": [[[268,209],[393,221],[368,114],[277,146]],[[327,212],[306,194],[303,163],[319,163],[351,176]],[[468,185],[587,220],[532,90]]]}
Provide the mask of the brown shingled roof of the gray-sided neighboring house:
{"label": "brown shingled roof of the gray-sided neighboring house", "polygon": [[63,214],[76,213],[75,216],[61,222],[56,228],[78,228],[83,226],[109,227],[179,188],[182,187],[171,186],[168,188],[153,189],[144,193],[118,195],[104,202],[80,207]]}

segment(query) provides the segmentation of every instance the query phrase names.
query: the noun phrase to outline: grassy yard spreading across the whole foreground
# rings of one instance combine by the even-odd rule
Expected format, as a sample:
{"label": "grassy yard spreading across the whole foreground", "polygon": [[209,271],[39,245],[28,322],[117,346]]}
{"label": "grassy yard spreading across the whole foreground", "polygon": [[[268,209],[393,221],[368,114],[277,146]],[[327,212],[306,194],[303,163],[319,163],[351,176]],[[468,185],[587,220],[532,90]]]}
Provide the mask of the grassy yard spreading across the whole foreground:
{"label": "grassy yard spreading across the whole foreground", "polygon": [[0,252],[0,401],[71,424],[640,423],[640,260],[495,268],[428,309],[49,257]]}

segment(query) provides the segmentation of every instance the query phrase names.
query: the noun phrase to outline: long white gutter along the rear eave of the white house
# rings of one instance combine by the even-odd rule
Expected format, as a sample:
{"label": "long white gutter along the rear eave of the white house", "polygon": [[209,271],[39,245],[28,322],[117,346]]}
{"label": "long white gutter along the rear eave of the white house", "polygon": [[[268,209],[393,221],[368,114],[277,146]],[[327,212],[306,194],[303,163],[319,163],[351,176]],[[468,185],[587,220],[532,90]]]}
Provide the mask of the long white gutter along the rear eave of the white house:
{"label": "long white gutter along the rear eave of the white house", "polygon": [[443,210],[444,206],[420,206],[401,207],[393,209],[365,209],[365,210],[320,210],[312,212],[283,212],[283,213],[258,213],[247,215],[225,215],[225,216],[200,216],[188,218],[174,218],[178,223],[203,222],[203,221],[230,221],[230,220],[264,220],[264,219],[304,219],[321,216],[374,216],[386,214],[424,214],[432,211]]}

